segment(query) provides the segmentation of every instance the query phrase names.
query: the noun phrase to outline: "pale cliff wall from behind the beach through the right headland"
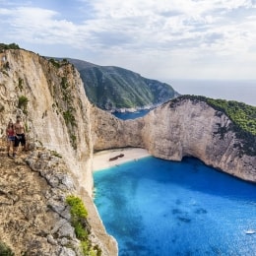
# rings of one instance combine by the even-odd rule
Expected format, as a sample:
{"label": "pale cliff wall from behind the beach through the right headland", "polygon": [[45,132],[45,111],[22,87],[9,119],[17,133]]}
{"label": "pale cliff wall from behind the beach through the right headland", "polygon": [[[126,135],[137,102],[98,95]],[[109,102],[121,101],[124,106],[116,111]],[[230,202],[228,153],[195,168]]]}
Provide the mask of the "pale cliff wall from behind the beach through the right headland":
{"label": "pale cliff wall from behind the beach through the right headland", "polygon": [[[96,108],[93,111],[100,116],[92,123],[95,150],[141,147],[164,160],[190,156],[256,182],[255,155],[241,154],[237,144],[243,142],[229,129],[231,120],[204,101],[187,98],[169,101],[144,118],[127,121]],[[224,134],[219,132],[220,128]]]}

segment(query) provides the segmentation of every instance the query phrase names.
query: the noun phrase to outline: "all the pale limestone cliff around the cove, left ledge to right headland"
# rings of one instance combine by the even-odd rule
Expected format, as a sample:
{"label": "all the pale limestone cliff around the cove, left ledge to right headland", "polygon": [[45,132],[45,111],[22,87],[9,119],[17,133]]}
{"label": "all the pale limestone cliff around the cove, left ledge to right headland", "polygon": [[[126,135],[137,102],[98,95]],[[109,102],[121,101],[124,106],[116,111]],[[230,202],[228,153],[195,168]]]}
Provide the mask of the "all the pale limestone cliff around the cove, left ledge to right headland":
{"label": "all the pale limestone cliff around the cove, left ledge to right headland", "polygon": [[102,255],[117,254],[92,199],[94,151],[141,147],[165,160],[192,156],[256,182],[255,154],[241,152],[232,121],[203,100],[171,100],[144,118],[121,121],[91,105],[73,65],[18,49],[0,53],[0,99],[0,139],[19,113],[32,150],[16,162],[0,155],[0,237],[17,255],[79,255],[68,194],[83,198]]}

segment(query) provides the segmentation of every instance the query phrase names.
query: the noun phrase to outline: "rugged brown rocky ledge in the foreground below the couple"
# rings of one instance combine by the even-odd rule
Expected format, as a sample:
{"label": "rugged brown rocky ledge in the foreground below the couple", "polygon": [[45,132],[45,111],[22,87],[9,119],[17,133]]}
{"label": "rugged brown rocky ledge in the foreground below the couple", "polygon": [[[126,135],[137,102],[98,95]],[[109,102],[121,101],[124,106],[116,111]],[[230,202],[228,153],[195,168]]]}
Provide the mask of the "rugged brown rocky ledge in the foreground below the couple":
{"label": "rugged brown rocky ledge in the foreground below the couple", "polygon": [[[67,196],[77,195],[76,184],[60,156],[43,149],[23,154],[17,160],[5,157],[3,152],[1,155],[0,242],[15,255],[87,255],[66,202]],[[84,199],[89,212],[89,249],[96,255],[115,255],[115,242],[111,237],[105,239],[104,228],[86,192]]]}

